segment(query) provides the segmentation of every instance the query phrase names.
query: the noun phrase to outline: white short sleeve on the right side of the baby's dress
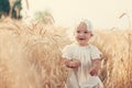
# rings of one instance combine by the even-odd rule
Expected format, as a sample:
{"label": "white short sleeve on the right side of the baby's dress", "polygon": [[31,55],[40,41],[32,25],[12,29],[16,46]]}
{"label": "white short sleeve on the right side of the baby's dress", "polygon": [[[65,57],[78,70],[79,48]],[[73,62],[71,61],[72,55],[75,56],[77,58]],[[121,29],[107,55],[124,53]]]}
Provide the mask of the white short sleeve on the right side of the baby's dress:
{"label": "white short sleeve on the right side of the baby's dress", "polygon": [[91,59],[97,59],[97,58],[100,59],[101,55],[102,55],[102,53],[98,50],[98,47],[96,47],[96,46],[91,47],[91,51],[90,51]]}

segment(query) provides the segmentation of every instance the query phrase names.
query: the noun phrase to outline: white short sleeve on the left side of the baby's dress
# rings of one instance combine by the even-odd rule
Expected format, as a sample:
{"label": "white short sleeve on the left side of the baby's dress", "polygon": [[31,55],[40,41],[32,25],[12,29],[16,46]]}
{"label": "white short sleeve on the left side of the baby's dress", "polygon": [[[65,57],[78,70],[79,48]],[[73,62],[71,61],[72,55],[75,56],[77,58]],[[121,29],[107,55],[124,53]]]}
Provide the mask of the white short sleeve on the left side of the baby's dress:
{"label": "white short sleeve on the left side of the baby's dress", "polygon": [[63,48],[62,53],[63,53],[62,57],[67,58],[67,59],[72,59],[72,47],[70,47],[70,45],[65,46]]}

